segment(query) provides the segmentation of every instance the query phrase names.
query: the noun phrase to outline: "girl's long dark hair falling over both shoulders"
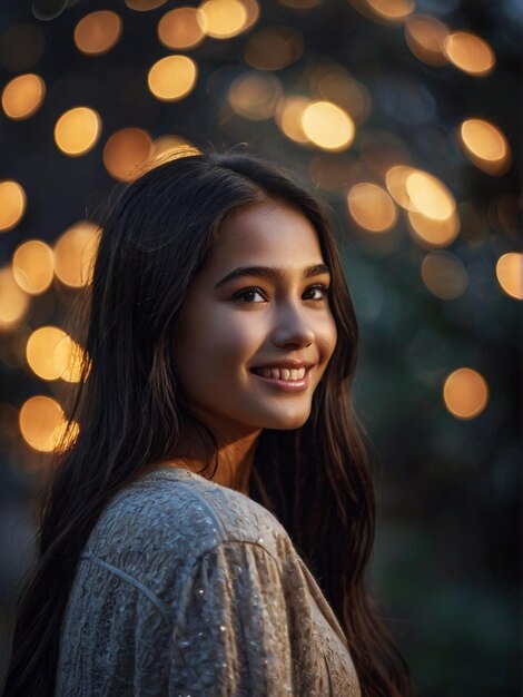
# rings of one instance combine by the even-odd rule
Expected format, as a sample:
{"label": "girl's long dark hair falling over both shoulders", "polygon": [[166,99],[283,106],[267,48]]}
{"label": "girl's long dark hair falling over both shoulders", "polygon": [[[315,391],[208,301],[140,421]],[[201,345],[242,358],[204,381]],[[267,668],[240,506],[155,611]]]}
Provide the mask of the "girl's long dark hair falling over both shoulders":
{"label": "girl's long dark hair falling over both shoulders", "polygon": [[[407,665],[364,583],[375,500],[351,401],[358,330],[325,207],[274,165],[245,154],[198,154],[150,168],[111,205],[88,288],[82,376],[41,498],[37,559],[20,596],[6,697],[53,694],[58,646],[78,557],[129,480],[169,460],[190,413],[174,366],[187,289],[231,212],[275,199],[313,224],[330,269],[337,343],[296,430],[262,432],[253,498],[283,522],[347,637],[366,697],[411,695]],[[72,438],[75,422],[79,433]]]}

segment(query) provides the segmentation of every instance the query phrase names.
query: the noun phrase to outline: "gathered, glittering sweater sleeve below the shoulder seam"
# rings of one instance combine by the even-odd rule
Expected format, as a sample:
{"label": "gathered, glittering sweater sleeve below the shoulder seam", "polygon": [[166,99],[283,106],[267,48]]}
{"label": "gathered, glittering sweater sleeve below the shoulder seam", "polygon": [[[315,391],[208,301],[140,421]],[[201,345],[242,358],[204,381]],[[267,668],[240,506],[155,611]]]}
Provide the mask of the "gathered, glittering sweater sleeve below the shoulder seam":
{"label": "gathered, glittering sweater sleeve below the shoulder seam", "polygon": [[286,599],[264,547],[217,544],[200,557],[176,605],[169,697],[293,694]]}

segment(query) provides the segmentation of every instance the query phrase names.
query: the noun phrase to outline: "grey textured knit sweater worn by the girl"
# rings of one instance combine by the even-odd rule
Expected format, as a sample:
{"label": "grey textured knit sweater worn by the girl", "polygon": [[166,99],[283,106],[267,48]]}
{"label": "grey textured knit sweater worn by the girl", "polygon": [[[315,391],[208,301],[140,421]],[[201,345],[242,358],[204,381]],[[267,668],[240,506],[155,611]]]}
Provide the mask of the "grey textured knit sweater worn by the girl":
{"label": "grey textured knit sweater worn by the girl", "polygon": [[343,631],[276,518],[180,468],[121,489],[77,568],[55,697],[358,697]]}

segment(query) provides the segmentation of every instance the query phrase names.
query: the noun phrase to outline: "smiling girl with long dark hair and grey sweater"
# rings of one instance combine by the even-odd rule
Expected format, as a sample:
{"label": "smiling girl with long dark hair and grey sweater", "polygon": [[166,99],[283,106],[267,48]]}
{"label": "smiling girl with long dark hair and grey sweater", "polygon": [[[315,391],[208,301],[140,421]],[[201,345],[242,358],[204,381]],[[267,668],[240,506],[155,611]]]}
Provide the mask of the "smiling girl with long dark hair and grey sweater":
{"label": "smiling girl with long dark hair and grey sweater", "polygon": [[289,176],[209,154],[128,185],[4,695],[409,695],[364,588],[356,345],[326,213]]}

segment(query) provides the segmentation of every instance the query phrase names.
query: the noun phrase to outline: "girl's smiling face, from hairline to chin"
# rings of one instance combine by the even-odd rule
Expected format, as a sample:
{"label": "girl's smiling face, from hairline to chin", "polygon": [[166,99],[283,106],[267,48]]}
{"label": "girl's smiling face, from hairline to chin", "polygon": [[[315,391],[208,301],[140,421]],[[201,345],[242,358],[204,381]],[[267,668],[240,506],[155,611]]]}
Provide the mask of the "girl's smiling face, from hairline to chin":
{"label": "girl's smiling face, from hairline to chin", "polygon": [[[215,434],[305,423],[336,344],[329,282],[316,232],[297,209],[269,200],[223,225],[175,337],[181,384]],[[253,371],[285,362],[305,362],[305,377]]]}

